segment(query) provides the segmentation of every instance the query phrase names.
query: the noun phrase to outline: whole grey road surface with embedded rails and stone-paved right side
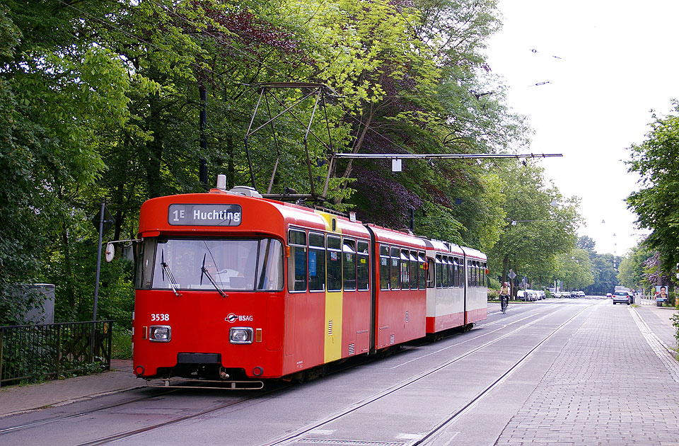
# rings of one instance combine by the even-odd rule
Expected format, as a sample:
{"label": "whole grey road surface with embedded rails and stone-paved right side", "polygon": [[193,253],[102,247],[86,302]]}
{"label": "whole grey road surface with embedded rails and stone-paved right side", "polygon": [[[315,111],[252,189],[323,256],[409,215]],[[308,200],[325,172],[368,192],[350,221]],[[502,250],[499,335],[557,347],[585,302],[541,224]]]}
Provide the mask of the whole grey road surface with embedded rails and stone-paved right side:
{"label": "whole grey road surface with embedded rails and stone-paved right side", "polygon": [[0,444],[679,445],[679,362],[644,311],[491,304],[472,331],[312,382],[137,389],[2,418]]}

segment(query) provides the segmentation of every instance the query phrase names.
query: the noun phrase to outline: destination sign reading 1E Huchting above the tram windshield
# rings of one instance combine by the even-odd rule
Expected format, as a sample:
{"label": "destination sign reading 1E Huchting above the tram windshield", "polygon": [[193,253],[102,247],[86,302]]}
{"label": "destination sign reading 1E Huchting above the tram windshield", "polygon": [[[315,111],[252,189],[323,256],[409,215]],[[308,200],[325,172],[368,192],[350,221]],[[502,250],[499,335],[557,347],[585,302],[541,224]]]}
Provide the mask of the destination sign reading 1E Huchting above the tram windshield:
{"label": "destination sign reading 1E Huchting above the tram windshield", "polygon": [[170,205],[168,223],[173,226],[238,226],[240,205]]}

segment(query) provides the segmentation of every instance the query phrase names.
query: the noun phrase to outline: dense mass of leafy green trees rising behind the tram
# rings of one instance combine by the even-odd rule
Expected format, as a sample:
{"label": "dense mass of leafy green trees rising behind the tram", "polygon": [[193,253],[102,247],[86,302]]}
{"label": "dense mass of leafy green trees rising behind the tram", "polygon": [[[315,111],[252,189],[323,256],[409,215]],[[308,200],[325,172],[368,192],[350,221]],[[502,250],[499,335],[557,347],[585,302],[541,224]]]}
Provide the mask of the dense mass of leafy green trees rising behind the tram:
{"label": "dense mass of leafy green trees rising behind the tram", "polygon": [[[134,239],[144,200],[204,190],[200,159],[209,183],[225,173],[228,187],[308,193],[329,176],[329,207],[395,228],[414,212],[417,234],[488,251],[496,270],[511,257],[546,279],[578,217],[535,166],[437,159],[392,173],[386,161],[331,156],[526,144],[484,60],[499,25],[494,0],[4,2],[0,206],[13,219],[0,227],[0,324],[30,304],[13,289],[35,280],[57,285],[59,319],[88,319],[100,202],[115,217],[106,238]],[[282,81],[337,95],[315,108],[301,101],[307,88],[272,88],[260,101],[262,84]],[[250,124],[262,129],[246,153]],[[555,210],[555,199],[565,205]],[[511,227],[506,217],[536,221]],[[132,275],[125,261],[103,265],[99,313],[120,327]]]}

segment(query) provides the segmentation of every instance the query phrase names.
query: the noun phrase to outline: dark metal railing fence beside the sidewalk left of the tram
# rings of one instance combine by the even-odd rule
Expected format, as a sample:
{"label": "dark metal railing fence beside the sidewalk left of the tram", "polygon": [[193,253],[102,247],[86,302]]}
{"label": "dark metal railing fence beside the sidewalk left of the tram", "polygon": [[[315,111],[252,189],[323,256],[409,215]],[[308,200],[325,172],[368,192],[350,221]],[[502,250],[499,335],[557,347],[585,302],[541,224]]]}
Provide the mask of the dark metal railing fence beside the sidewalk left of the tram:
{"label": "dark metal railing fence beside the sidewalk left of the tram", "polygon": [[0,326],[0,386],[110,370],[113,321]]}

